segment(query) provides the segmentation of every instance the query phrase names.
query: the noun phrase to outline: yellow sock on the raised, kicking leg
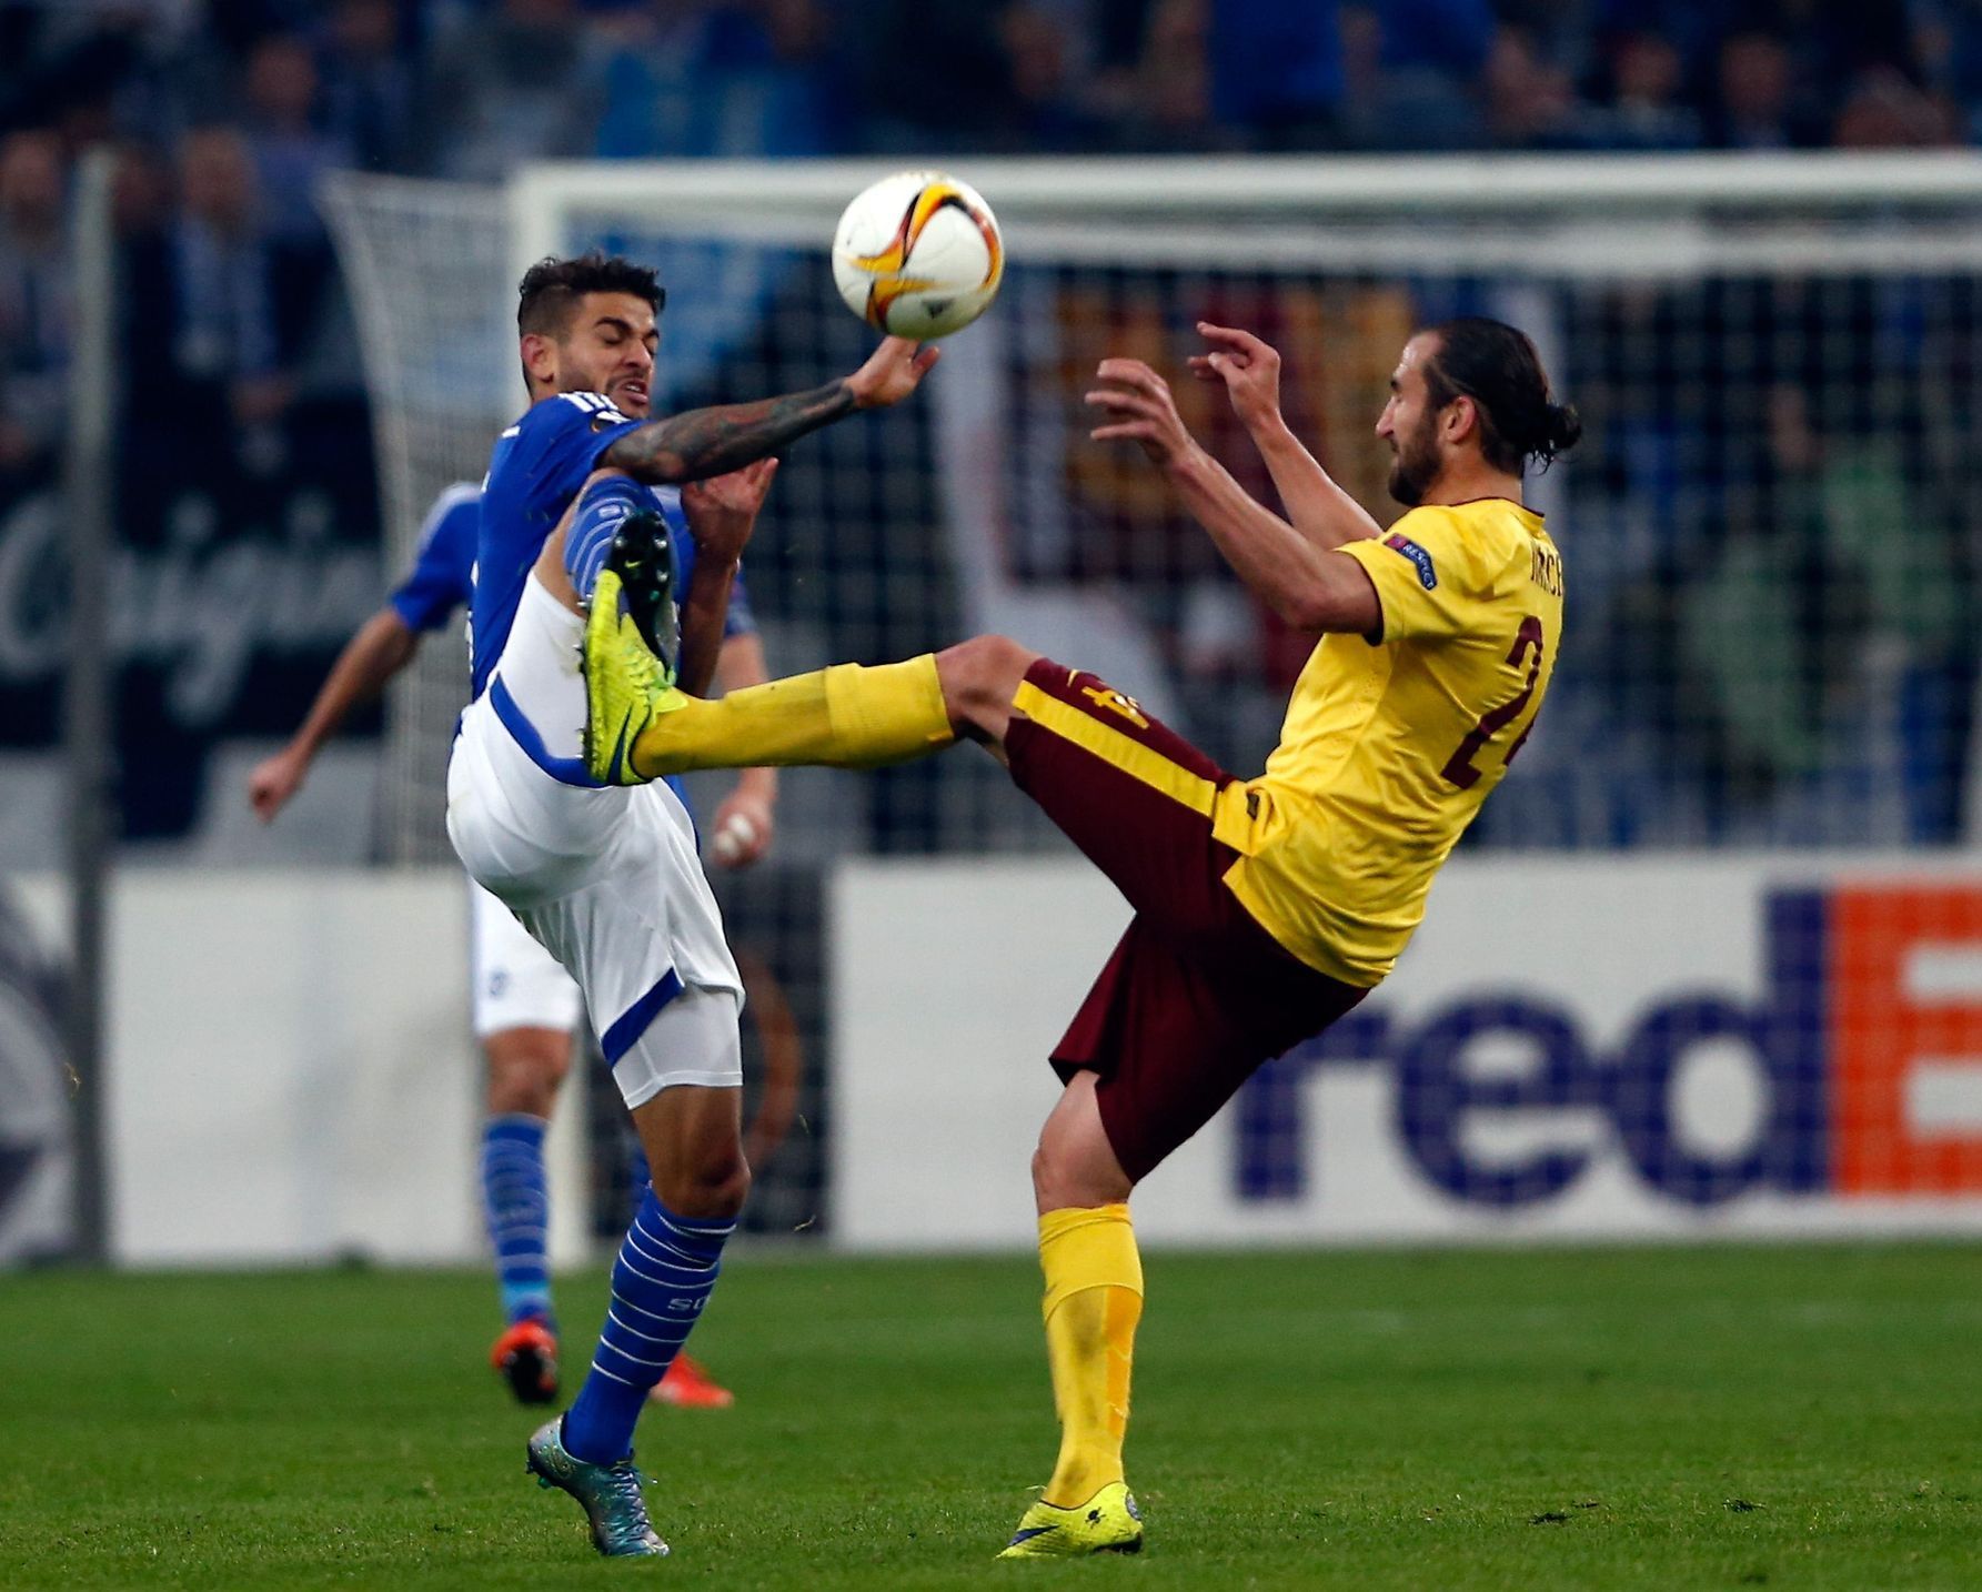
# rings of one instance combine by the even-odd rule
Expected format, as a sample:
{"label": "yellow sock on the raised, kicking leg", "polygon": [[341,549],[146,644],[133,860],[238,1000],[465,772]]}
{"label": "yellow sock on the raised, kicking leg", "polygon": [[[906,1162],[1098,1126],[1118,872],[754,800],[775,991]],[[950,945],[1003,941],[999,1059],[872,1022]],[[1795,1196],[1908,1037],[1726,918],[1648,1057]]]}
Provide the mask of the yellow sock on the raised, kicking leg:
{"label": "yellow sock on the raised, kicking leg", "polygon": [[678,698],[678,706],[640,732],[632,765],[650,779],[789,763],[872,769],[953,739],[936,654],[924,652],[878,668],[834,664],[745,686],[716,702]]}

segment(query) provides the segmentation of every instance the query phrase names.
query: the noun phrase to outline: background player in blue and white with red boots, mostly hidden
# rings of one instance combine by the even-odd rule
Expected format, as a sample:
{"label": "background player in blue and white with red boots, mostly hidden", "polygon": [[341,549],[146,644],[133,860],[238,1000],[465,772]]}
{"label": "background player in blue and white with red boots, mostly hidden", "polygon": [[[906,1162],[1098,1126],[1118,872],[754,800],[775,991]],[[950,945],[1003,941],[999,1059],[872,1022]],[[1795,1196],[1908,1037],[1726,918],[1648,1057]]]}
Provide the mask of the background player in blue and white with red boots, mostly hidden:
{"label": "background player in blue and white with red boots, mostly hidden", "polygon": [[[692,567],[692,541],[680,494],[656,488],[656,502]],[[420,640],[446,626],[474,593],[476,535],[482,488],[446,488],[420,527],[412,573],[385,607],[345,642],[289,743],[256,765],[248,801],[272,823],[309,777],[317,751],[359,704],[371,702],[406,668]],[[731,589],[716,680],[723,690],[767,678],[763,640],[751,619],[741,577]],[[777,811],[777,771],[743,769],[735,789],[716,809],[710,831],[723,866],[747,868],[771,845]],[[521,1404],[557,1398],[557,1310],[549,1271],[549,1182],[543,1136],[551,1108],[571,1071],[573,1041],[585,1015],[579,985],[557,966],[496,896],[468,880],[470,1007],[474,1035],[488,1063],[488,1118],[482,1128],[482,1209],[488,1219],[503,1332],[490,1364]],[[634,1199],[646,1182],[646,1160],[634,1150]],[[727,1388],[688,1354],[678,1354],[654,1386],[656,1404],[719,1410],[733,1404]]]}

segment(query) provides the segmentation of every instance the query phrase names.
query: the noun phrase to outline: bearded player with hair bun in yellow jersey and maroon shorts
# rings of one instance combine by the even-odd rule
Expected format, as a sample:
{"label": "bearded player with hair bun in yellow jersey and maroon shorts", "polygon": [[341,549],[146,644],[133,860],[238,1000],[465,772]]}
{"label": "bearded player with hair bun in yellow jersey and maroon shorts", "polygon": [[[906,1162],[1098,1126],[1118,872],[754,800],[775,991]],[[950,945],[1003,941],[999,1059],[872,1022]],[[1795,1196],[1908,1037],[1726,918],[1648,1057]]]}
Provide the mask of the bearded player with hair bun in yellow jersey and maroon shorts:
{"label": "bearded player with hair bun in yellow jersey and maroon shorts", "polygon": [[1088,402],[1104,416],[1094,436],[1142,444],[1239,577],[1320,634],[1257,779],[1003,636],[700,702],[660,678],[614,577],[589,621],[595,777],[870,767],[961,736],[1005,761],[1136,908],[1052,1053],[1066,1088],[1033,1156],[1060,1455],[1005,1548],[1015,1558],[1142,1546],[1122,1471],[1142,1314],[1130,1192],[1257,1067],[1391,969],[1433,874],[1534,726],[1562,634],[1562,559],[1522,504],[1522,474],[1582,428],[1526,335],[1461,319],[1405,345],[1376,432],[1409,513],[1383,531],[1280,418],[1278,355],[1243,331],[1199,331],[1209,351],[1193,371],[1225,385],[1284,519],[1191,438],[1142,361],[1102,361]]}

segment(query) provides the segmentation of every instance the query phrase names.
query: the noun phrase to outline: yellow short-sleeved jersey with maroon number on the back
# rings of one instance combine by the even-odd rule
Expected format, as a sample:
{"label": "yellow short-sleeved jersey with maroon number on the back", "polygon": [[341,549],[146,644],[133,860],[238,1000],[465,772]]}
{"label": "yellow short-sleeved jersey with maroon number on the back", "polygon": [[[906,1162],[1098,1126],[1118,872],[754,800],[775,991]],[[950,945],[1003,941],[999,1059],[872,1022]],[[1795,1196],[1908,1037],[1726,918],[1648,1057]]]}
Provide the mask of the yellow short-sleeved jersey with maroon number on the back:
{"label": "yellow short-sleeved jersey with maroon number on the back", "polygon": [[1376,636],[1324,636],[1259,779],[1219,793],[1225,884],[1286,950],[1368,987],[1534,726],[1562,636],[1562,557],[1506,498],[1417,508],[1336,549],[1376,585]]}

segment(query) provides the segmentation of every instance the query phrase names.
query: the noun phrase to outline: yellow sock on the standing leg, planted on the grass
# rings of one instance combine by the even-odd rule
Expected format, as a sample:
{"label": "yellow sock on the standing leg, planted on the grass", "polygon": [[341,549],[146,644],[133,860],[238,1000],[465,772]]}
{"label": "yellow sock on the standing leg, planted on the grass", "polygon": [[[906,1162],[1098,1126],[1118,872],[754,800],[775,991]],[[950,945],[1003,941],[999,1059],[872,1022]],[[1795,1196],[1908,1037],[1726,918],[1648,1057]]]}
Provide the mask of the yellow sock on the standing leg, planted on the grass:
{"label": "yellow sock on the standing leg, planted on the grass", "polygon": [[1060,1461],[1045,1501],[1074,1509],[1122,1481],[1128,1376],[1142,1318],[1142,1257],[1128,1205],[1068,1207],[1039,1219],[1046,1273],[1046,1360],[1060,1412]]}

